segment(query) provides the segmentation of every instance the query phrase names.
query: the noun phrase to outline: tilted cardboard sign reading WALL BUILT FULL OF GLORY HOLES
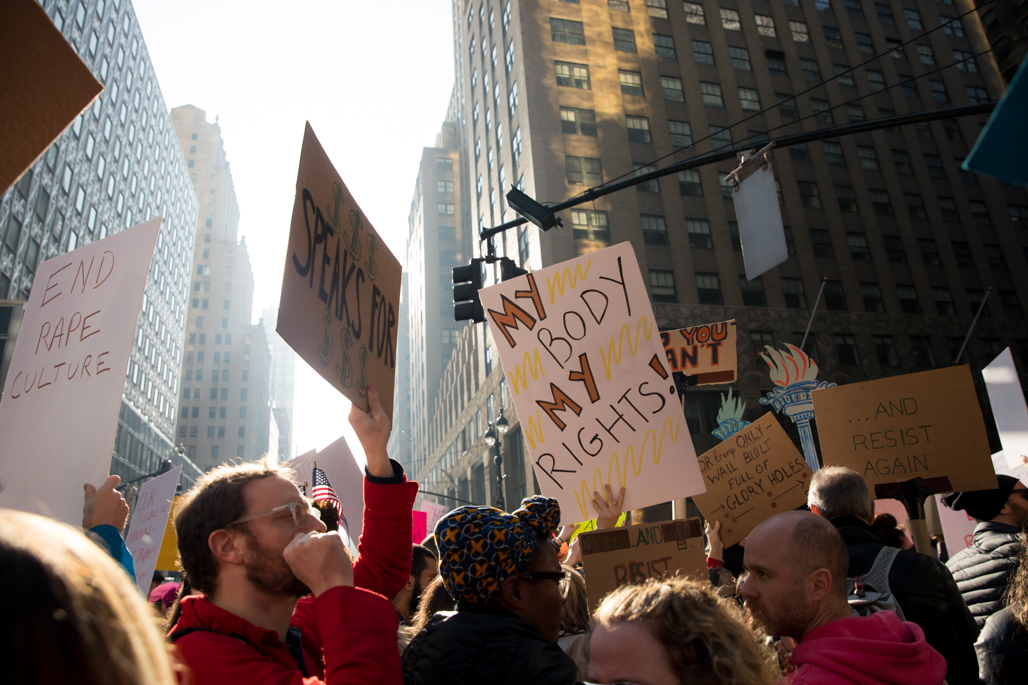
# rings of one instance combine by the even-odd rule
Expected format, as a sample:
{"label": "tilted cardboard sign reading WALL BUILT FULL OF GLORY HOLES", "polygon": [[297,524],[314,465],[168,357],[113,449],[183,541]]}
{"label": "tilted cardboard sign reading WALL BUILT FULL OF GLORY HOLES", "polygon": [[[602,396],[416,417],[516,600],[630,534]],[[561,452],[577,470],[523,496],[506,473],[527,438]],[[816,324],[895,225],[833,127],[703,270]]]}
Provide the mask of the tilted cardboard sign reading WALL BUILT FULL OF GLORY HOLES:
{"label": "tilted cardboard sign reading WALL BUILT FULL OF GLORY HOLES", "polygon": [[699,457],[707,491],[693,502],[721,521],[726,547],[758,524],[807,503],[810,467],[770,411]]}

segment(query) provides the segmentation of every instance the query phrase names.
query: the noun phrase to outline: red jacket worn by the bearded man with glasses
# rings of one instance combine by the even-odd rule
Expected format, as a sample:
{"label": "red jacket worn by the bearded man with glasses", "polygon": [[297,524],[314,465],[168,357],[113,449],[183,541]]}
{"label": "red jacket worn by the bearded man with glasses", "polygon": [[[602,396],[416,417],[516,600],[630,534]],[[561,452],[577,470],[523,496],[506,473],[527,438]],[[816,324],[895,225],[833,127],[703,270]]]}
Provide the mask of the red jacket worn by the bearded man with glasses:
{"label": "red jacket worn by the bearded man with glasses", "polygon": [[[417,483],[364,481],[364,530],[354,564],[356,587],[334,587],[297,603],[291,632],[299,637],[306,677],[290,644],[216,607],[186,598],[170,637],[196,685],[315,685],[403,682],[393,598],[410,577],[411,516]],[[382,597],[384,596],[384,597]],[[288,641],[287,641],[288,642]]]}

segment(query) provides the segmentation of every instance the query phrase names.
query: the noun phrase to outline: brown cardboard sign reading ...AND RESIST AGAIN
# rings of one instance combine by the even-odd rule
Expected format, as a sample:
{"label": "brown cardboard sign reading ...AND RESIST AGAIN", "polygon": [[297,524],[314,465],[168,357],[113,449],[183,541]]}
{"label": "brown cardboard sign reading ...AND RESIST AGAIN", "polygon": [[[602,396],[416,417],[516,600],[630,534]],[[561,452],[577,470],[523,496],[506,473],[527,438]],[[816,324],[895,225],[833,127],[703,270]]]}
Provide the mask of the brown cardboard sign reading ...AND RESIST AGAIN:
{"label": "brown cardboard sign reading ...AND RESIST AGAIN", "polygon": [[967,366],[951,366],[815,390],[824,465],[846,466],[875,485],[948,478],[938,492],[996,488],[989,439]]}

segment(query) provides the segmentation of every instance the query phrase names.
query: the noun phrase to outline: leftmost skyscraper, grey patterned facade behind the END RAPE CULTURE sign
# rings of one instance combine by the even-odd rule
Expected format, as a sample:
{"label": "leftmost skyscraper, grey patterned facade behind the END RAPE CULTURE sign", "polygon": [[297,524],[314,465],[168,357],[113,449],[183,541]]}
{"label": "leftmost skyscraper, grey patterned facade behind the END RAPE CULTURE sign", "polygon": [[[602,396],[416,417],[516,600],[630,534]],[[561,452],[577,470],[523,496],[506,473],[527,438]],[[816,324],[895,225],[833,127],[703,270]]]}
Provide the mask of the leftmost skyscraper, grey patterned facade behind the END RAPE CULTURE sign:
{"label": "leftmost skyscraper, grey patterned facade behind the END RAPE CULTURE sign", "polygon": [[42,4],[104,92],[0,199],[0,299],[27,299],[42,260],[162,216],[111,473],[131,480],[171,459],[188,486],[199,471],[174,428],[196,196],[130,0]]}

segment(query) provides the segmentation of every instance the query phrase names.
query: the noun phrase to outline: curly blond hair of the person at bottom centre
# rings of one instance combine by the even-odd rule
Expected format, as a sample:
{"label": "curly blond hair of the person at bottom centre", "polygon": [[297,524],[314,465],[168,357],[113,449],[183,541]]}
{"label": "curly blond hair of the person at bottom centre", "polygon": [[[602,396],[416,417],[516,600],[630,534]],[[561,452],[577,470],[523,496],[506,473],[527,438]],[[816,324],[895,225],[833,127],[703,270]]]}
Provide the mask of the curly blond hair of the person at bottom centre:
{"label": "curly blond hair of the person at bottom centre", "polygon": [[627,622],[653,632],[682,683],[772,685],[778,679],[773,653],[762,647],[765,636],[708,583],[675,577],[623,585],[600,603],[593,628]]}

